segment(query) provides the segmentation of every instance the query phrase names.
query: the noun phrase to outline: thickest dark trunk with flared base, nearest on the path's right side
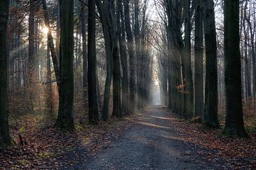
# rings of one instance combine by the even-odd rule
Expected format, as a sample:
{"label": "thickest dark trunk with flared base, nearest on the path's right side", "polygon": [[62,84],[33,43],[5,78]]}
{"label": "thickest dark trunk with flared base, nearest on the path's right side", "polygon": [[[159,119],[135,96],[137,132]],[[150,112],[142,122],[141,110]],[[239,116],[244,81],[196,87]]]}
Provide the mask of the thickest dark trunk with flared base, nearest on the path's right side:
{"label": "thickest dark trunk with flared base, nearest on the path's right side", "polygon": [[242,118],[239,0],[224,2],[225,95],[224,132],[247,137]]}

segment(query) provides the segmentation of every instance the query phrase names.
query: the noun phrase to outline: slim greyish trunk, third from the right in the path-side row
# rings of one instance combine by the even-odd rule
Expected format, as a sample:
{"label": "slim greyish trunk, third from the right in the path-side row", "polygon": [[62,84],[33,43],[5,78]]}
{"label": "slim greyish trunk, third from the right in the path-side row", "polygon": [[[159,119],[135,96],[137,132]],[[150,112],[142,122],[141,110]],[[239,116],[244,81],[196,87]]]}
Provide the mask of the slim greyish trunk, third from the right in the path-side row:
{"label": "slim greyish trunk, third from the right in the path-side row", "polygon": [[195,115],[203,116],[203,4],[195,0]]}

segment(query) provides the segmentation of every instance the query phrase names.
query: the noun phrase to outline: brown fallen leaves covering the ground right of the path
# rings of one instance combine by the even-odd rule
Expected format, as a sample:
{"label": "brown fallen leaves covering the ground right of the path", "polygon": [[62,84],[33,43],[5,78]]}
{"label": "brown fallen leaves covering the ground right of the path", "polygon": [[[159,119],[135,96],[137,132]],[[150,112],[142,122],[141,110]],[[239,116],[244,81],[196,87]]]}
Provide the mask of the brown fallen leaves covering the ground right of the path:
{"label": "brown fallen leaves covering the ground right of the path", "polygon": [[[256,131],[250,131],[250,138],[222,135],[221,129],[204,127],[176,118],[171,121],[179,140],[186,142],[201,154],[207,162],[215,162],[220,169],[256,169]],[[172,119],[173,120],[173,119]]]}

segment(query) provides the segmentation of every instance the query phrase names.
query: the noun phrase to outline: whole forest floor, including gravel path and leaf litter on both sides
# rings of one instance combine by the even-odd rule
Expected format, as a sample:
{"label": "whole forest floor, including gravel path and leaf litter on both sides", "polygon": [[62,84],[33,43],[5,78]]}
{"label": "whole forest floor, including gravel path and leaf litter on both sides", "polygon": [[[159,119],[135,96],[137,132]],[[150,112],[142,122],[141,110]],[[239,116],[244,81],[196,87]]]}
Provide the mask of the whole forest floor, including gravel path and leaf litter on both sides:
{"label": "whole forest floor, including gravel path and leaf litter on both sides", "polygon": [[16,145],[0,150],[0,169],[256,169],[255,131],[249,139],[228,137],[161,106],[95,126],[77,123],[75,132],[47,123],[11,127]]}

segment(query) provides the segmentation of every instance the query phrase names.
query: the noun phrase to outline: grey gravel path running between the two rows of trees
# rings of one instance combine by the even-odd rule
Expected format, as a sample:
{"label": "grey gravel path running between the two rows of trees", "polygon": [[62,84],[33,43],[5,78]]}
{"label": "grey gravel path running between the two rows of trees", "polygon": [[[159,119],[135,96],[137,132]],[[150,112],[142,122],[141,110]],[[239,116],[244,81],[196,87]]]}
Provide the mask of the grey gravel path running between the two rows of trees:
{"label": "grey gravel path running between the two rows of trees", "polygon": [[151,106],[134,121],[107,149],[72,169],[217,169],[179,138],[178,118],[166,108]]}

